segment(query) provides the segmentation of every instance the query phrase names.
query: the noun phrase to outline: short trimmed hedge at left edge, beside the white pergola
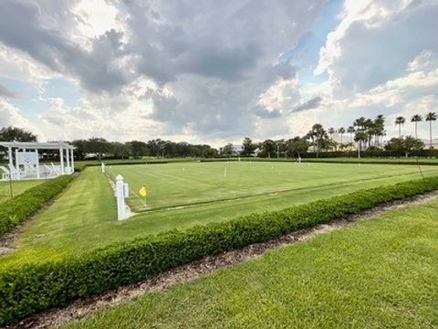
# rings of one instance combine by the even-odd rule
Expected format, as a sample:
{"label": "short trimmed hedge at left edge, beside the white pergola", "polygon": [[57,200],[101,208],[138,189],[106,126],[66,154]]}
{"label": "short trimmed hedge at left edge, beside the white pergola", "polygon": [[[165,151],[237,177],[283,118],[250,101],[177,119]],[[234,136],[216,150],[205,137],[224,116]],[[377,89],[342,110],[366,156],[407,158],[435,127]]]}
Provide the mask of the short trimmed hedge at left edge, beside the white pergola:
{"label": "short trimmed hedge at left edge, beside the white pergola", "polygon": [[34,215],[72,179],[71,175],[63,175],[47,180],[0,204],[0,235]]}

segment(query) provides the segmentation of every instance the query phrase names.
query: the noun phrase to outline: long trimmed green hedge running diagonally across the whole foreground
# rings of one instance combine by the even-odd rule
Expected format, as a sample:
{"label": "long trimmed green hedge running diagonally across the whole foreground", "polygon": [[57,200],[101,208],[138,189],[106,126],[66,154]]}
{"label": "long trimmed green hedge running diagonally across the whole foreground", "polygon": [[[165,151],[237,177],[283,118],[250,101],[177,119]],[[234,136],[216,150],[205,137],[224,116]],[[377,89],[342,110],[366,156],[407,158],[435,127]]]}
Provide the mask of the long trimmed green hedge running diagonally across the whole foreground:
{"label": "long trimmed green hedge running diagonally across the whole foreground", "polygon": [[185,231],[172,230],[69,259],[16,265],[0,272],[0,324],[65,305],[78,297],[141,281],[203,256],[274,239],[435,189],[438,177],[381,186]]}

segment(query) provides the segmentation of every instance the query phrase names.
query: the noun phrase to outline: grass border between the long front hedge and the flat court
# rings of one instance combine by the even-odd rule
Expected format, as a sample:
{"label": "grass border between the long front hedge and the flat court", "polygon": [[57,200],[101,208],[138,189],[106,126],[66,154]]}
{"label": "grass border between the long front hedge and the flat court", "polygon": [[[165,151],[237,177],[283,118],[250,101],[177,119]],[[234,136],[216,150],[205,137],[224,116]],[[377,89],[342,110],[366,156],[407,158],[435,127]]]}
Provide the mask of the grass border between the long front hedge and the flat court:
{"label": "grass border between the long front hedge and the flat court", "polygon": [[[352,170],[351,164],[305,164],[303,167],[312,171],[317,166],[320,171],[330,171],[332,167],[339,166]],[[173,228],[192,228],[195,225],[230,220],[253,212],[282,209],[362,188],[419,178],[415,171],[412,174],[400,175],[401,170],[412,171],[412,167],[409,166],[406,169],[397,166],[398,170],[392,173],[393,176],[379,175],[387,165],[361,164],[354,167],[358,171],[364,171],[366,166],[372,167],[376,173],[362,176],[365,180],[351,182],[345,177],[340,177],[337,184],[324,185],[321,178],[321,184],[312,187],[196,207],[150,211],[122,222],[117,221],[115,199],[106,177],[100,173],[98,167],[89,167],[68,186],[52,206],[25,224],[23,232],[16,239],[16,250],[0,257],[0,269],[13,263],[56,260]],[[273,169],[269,167],[269,170]],[[343,173],[344,171],[339,170],[339,175],[342,176]],[[428,168],[425,175],[438,175],[438,169]]]}

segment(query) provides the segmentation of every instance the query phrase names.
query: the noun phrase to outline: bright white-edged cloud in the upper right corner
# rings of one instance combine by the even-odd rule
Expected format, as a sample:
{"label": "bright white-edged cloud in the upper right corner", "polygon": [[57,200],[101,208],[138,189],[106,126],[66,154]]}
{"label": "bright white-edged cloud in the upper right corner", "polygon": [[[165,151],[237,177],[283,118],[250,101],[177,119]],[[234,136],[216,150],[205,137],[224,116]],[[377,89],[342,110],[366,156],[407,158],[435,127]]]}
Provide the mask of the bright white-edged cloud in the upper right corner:
{"label": "bright white-edged cloud in the upper right corner", "polygon": [[321,49],[334,96],[348,97],[396,78],[424,49],[438,51],[438,2],[347,0],[343,19]]}

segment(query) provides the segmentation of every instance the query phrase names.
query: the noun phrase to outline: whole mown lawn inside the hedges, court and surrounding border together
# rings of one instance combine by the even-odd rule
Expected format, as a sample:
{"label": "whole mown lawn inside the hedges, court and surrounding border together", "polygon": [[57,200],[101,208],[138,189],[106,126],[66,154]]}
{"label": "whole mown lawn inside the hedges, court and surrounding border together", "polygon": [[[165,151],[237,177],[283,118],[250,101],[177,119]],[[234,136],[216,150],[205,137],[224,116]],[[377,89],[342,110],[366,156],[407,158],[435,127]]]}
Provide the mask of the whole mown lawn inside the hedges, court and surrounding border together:
{"label": "whole mown lawn inside the hedges, court and surrounding border together", "polygon": [[[224,177],[226,165],[229,170]],[[252,167],[245,175],[240,165]],[[126,171],[133,189],[143,184],[143,179],[139,177],[144,173],[147,173],[145,177],[151,178],[155,173],[155,178],[148,183],[148,203],[151,202],[155,207],[208,201],[213,199],[214,193],[216,198],[228,197],[227,189],[234,190],[232,196],[237,198],[224,201],[216,199],[192,207],[146,211],[118,222],[115,198],[106,176],[101,174],[99,167],[89,167],[53,205],[24,225],[16,239],[16,250],[0,257],[0,269],[12,263],[59,259],[172,228],[191,228],[253,212],[282,209],[363,188],[420,178],[418,168],[409,165],[138,164],[114,166],[110,171],[119,168]],[[423,168],[423,171],[426,176],[438,175],[438,168],[435,167]],[[130,172],[138,174],[129,178]],[[192,175],[193,179],[184,178],[188,175]],[[245,182],[247,187],[243,186]],[[279,192],[280,189],[286,191]]]}

